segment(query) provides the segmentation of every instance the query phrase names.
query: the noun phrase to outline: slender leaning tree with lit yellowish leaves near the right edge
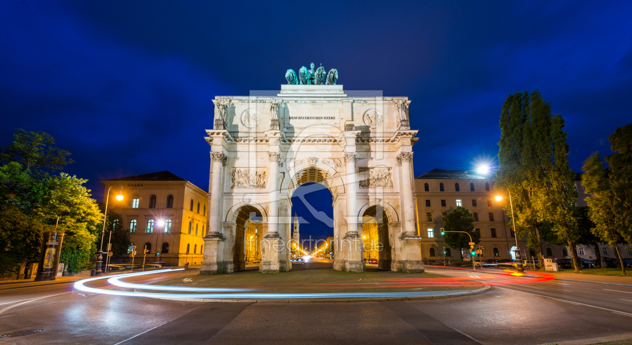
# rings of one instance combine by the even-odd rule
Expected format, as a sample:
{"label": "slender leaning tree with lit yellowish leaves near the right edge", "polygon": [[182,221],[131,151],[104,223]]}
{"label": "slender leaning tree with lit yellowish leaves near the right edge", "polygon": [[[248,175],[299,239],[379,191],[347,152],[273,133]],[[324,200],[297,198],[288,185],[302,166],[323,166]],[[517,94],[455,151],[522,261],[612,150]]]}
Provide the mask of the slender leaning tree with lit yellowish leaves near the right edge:
{"label": "slender leaning tree with lit yellowish leaves near the right edge", "polygon": [[619,231],[625,231],[625,229],[617,227],[616,214],[612,207],[615,203],[614,193],[611,190],[599,152],[590,155],[584,162],[582,169],[584,174],[581,177],[581,185],[584,186],[585,193],[590,195],[585,200],[590,207],[590,212],[588,212],[590,220],[595,224],[591,231],[602,241],[614,247],[621,264],[621,271],[626,274],[621,255],[619,255],[619,246],[617,246],[623,239]]}

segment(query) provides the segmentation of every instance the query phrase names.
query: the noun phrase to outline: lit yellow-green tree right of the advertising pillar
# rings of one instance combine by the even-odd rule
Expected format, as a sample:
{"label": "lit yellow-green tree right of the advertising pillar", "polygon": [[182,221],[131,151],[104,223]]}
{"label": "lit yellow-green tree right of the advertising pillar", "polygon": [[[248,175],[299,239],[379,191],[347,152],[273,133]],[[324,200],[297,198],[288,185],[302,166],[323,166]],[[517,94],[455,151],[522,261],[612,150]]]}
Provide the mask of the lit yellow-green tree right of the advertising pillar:
{"label": "lit yellow-green tree right of the advertising pillar", "polygon": [[90,265],[90,257],[97,251],[95,241],[102,230],[103,214],[90,190],[82,186],[87,179],[61,173],[47,180],[51,190],[44,197],[37,214],[46,224],[55,224],[64,233],[60,261],[68,272],[79,272]]}

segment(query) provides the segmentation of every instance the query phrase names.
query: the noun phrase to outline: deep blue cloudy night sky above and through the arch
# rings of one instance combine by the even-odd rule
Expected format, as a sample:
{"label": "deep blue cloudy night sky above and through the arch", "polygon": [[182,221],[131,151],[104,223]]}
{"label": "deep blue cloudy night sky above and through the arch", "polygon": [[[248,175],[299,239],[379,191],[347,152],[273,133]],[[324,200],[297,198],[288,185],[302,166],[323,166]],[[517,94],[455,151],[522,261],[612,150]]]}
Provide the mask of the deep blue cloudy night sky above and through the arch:
{"label": "deep blue cloudy night sky above and through the arch", "polygon": [[[630,18],[630,1],[1,1],[0,145],[46,131],[99,200],[99,179],[163,170],[206,190],[211,99],[313,62],[412,100],[416,175],[494,164],[502,103],[535,88],[579,171],[631,122]],[[301,234],[321,236],[308,213]]]}

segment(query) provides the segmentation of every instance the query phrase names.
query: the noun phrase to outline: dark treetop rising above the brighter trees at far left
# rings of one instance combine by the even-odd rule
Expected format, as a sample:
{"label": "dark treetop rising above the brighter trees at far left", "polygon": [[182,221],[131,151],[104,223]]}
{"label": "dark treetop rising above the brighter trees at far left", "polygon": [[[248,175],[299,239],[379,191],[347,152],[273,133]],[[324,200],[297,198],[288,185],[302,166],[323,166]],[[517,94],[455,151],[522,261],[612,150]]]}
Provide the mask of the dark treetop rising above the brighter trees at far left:
{"label": "dark treetop rising above the brighter trees at far left", "polygon": [[[66,159],[70,152],[52,147],[55,140],[45,132],[28,132],[18,129],[13,133],[13,143],[0,150],[0,162],[18,162],[23,171],[47,169],[58,171],[66,164],[72,164],[72,159]],[[33,172],[34,173],[34,172]],[[43,171],[34,174],[44,174]]]}

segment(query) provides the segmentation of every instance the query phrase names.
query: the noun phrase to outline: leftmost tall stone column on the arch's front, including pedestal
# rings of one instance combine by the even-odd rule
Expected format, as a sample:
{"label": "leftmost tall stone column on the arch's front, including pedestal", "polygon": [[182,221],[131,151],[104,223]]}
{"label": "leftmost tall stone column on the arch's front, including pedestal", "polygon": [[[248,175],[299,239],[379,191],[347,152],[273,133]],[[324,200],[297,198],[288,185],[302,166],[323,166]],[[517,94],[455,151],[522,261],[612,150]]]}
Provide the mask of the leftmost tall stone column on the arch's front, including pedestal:
{"label": "leftmost tall stone column on the arch's front, including pedestal", "polygon": [[220,274],[224,272],[224,234],[222,234],[222,203],[224,186],[222,174],[228,157],[224,152],[211,152],[213,177],[210,191],[209,229],[204,237],[204,258],[200,274]]}

